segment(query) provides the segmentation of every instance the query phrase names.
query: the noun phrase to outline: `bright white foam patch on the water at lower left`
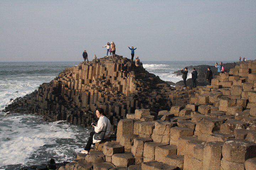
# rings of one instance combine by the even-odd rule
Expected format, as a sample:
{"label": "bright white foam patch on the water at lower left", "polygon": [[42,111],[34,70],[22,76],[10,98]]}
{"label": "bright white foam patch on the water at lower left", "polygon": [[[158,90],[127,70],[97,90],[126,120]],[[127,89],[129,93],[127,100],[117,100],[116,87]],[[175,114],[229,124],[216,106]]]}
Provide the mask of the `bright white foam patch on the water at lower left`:
{"label": "bright white foam patch on the water at lower left", "polygon": [[[56,140],[60,138],[75,138],[77,134],[69,125],[57,124],[59,121],[35,124],[30,122],[33,118],[39,119],[38,116],[19,115],[0,120],[0,166],[25,164],[40,147],[56,144]],[[53,148],[48,147],[46,152],[51,149]],[[66,147],[62,147],[62,151],[57,149],[56,156],[64,155],[65,149]]]}

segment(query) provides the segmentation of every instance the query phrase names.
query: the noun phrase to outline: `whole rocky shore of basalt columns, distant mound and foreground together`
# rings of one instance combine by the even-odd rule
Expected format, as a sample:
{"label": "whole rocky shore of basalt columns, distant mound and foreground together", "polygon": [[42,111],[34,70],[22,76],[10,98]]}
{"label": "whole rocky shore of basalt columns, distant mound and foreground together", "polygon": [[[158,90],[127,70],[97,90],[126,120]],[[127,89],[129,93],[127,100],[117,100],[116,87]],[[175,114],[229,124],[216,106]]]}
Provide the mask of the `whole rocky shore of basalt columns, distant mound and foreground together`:
{"label": "whole rocky shore of basalt columns, distant mound and foreground together", "polygon": [[[119,76],[123,62],[128,79]],[[6,111],[88,126],[96,107],[107,111],[116,138],[59,170],[256,169],[256,61],[215,75],[212,85],[183,89],[143,67],[135,72],[127,58],[104,57],[65,69]]]}

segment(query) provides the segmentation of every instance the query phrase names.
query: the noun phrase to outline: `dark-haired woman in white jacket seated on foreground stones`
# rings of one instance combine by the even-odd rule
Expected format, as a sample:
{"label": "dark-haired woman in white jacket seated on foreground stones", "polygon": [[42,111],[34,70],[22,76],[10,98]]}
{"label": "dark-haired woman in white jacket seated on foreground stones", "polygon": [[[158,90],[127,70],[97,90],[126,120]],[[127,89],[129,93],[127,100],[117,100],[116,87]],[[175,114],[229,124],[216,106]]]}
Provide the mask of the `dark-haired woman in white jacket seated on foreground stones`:
{"label": "dark-haired woman in white jacket seated on foreground stones", "polygon": [[[104,114],[104,110],[102,108],[98,108],[96,110],[96,116],[99,118],[98,123],[96,126],[92,125],[94,127],[94,131],[96,133],[105,132],[104,139],[110,138],[110,131],[111,131],[111,123],[110,120],[106,117],[106,114]],[[88,139],[88,142],[81,153],[88,154],[91,149],[91,145],[93,143],[98,143],[101,140],[95,140],[95,132],[90,133],[90,137]]]}

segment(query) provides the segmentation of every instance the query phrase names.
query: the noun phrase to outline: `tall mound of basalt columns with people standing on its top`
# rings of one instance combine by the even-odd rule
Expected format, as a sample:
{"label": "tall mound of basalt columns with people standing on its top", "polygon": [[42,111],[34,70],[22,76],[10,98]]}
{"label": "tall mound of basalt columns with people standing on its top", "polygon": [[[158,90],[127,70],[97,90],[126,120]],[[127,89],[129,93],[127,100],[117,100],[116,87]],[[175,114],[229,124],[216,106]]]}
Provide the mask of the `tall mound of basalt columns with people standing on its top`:
{"label": "tall mound of basalt columns with people standing on its top", "polygon": [[[123,63],[128,64],[128,78],[121,78]],[[156,113],[170,109],[172,90],[174,88],[143,66],[135,72],[134,63],[127,58],[103,57],[66,68],[50,83],[43,83],[32,94],[16,99],[5,111],[29,111],[47,119],[88,126],[95,121],[92,112],[101,107],[116,126],[119,119],[126,118],[126,114],[134,113],[135,109],[145,108]]]}

